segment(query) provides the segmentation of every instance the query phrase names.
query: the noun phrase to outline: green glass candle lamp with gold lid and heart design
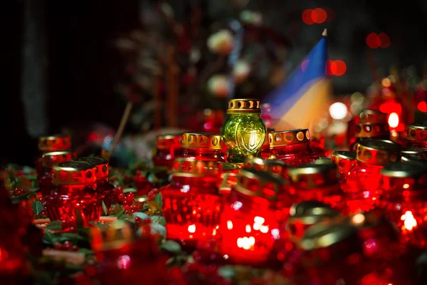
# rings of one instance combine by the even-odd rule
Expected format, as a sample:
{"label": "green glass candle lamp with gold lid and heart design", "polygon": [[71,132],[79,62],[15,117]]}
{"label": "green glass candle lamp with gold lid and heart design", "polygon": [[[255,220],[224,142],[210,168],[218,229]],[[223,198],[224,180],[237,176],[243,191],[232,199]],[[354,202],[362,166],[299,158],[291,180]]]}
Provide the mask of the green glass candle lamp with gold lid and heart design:
{"label": "green glass candle lamp with gold lid and heart design", "polygon": [[257,156],[267,136],[260,101],[231,99],[228,101],[227,115],[223,140],[228,146],[228,162],[242,163],[247,157]]}

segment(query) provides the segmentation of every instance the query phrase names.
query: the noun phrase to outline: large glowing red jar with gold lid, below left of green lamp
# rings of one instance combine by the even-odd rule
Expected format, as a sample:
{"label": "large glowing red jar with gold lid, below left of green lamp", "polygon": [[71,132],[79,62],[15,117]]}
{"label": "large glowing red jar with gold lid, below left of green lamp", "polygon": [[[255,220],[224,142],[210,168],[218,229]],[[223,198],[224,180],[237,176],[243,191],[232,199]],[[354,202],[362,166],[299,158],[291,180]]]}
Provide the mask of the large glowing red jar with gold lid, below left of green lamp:
{"label": "large glowing red jar with gold lid, below left of green lamp", "polygon": [[161,190],[167,239],[194,248],[216,236],[222,207],[220,167],[219,162],[176,158],[171,184]]}

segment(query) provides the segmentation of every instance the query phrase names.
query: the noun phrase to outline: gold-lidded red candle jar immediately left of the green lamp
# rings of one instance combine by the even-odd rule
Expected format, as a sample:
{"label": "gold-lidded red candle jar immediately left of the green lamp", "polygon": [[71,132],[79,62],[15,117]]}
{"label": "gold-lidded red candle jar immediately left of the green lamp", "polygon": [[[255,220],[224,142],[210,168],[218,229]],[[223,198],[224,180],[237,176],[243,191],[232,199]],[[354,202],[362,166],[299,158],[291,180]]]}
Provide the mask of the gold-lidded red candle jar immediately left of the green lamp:
{"label": "gold-lidded red candle jar immediately left of the green lamp", "polygon": [[221,157],[221,135],[184,133],[182,135],[182,157],[196,160],[223,162]]}

